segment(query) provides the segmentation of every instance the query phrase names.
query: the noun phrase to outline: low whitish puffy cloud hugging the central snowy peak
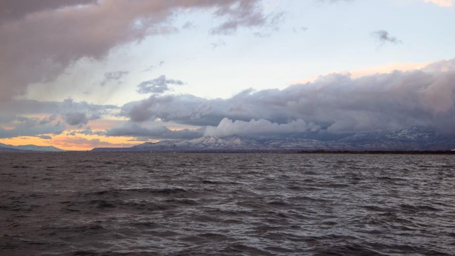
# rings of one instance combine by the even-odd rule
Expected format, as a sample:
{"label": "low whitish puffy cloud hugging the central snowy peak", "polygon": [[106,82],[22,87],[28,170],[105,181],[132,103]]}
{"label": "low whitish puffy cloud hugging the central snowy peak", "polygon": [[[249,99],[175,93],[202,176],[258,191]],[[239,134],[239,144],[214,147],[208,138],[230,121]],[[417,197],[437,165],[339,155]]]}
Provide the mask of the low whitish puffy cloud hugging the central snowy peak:
{"label": "low whitish puffy cloud hugging the central snowy peak", "polygon": [[298,134],[314,132],[320,129],[319,125],[307,124],[298,119],[289,123],[279,124],[268,120],[250,120],[249,122],[223,118],[217,126],[207,126],[204,136],[227,137],[232,135],[249,137],[274,137],[280,134]]}

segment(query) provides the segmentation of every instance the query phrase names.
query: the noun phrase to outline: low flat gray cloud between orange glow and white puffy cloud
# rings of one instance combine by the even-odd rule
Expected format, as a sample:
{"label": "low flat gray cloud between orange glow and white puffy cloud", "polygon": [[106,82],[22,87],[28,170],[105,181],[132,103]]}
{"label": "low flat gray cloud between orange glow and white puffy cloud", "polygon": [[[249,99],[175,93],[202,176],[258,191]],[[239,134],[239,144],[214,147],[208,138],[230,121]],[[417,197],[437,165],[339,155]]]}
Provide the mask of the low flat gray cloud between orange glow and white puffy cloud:
{"label": "low flat gray cloud between orange glow and white puffy cloud", "polygon": [[106,131],[106,136],[131,136],[147,139],[195,139],[202,135],[203,129],[172,131],[164,125],[144,127],[134,122],[125,122]]}

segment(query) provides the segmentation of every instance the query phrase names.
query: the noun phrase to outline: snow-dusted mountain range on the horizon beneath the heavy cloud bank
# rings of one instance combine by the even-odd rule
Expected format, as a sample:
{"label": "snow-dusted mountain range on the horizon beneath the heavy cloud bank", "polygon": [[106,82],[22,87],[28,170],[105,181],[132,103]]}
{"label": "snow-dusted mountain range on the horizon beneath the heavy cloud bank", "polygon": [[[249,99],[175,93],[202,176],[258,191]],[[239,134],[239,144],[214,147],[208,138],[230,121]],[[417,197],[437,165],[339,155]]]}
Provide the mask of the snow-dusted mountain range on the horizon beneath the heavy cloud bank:
{"label": "snow-dusted mountain range on the horizon beneath the heavy cloud bank", "polygon": [[130,148],[94,148],[95,152],[169,152],[169,151],[422,151],[451,150],[455,148],[455,136],[441,135],[424,127],[392,132],[361,133],[339,140],[319,141],[312,139],[252,139],[239,136],[224,138],[201,137],[192,140],[164,140],[144,143]]}

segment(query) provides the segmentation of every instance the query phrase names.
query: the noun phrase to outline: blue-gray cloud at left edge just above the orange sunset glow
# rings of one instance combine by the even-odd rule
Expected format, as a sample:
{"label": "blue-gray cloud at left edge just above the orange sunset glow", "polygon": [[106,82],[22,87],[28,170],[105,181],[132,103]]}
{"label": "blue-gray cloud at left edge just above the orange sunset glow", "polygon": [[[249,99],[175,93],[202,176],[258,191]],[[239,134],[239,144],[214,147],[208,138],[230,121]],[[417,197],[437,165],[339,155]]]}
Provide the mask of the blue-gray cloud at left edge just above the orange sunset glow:
{"label": "blue-gray cloud at left edge just above the orange sunset glow", "polygon": [[43,134],[61,134],[65,125],[55,119],[55,116],[44,118],[28,118],[18,116],[13,129],[0,127],[0,139],[19,136],[39,136]]}

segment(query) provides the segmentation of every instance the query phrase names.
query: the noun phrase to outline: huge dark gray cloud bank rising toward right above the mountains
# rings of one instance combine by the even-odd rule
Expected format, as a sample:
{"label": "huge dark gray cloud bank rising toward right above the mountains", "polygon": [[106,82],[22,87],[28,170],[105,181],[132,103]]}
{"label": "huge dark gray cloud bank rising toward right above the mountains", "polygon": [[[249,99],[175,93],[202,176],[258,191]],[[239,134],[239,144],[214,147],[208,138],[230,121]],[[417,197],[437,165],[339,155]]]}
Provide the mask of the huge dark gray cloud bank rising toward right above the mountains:
{"label": "huge dark gray cloud bank rising toward right above the mountains", "polygon": [[423,125],[455,133],[455,60],[422,70],[360,78],[330,74],[284,90],[244,91],[228,99],[152,95],[130,102],[122,114],[133,122],[218,126],[227,117],[249,122],[313,123],[332,133],[393,130]]}

